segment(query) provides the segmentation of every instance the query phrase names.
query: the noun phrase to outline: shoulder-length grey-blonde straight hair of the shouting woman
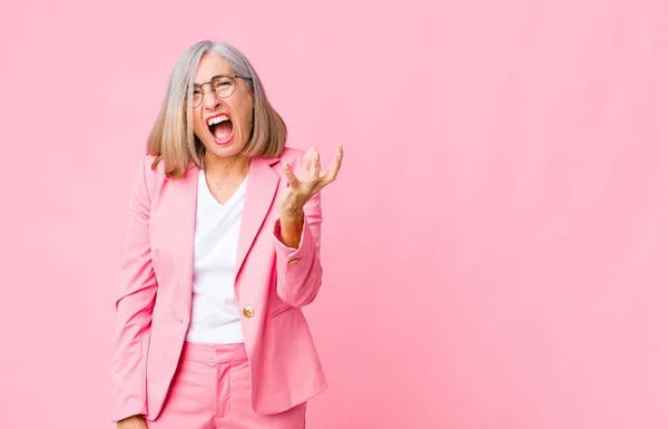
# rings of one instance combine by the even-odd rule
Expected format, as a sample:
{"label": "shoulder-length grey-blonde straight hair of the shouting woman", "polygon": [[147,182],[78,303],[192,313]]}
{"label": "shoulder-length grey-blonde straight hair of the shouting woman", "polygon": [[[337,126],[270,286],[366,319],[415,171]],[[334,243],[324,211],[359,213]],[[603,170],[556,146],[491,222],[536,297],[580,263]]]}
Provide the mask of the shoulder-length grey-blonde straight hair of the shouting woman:
{"label": "shoulder-length grey-blonde straight hair of the shouting woman", "polygon": [[174,66],[160,113],[147,143],[147,154],[156,156],[155,169],[163,162],[165,175],[183,177],[190,162],[202,168],[205,148],[193,130],[191,88],[199,60],[205,53],[220,56],[253,94],[253,130],[244,156],[277,157],[283,153],[287,128],[269,104],[257,72],[235,47],[209,40],[199,41],[180,56]]}

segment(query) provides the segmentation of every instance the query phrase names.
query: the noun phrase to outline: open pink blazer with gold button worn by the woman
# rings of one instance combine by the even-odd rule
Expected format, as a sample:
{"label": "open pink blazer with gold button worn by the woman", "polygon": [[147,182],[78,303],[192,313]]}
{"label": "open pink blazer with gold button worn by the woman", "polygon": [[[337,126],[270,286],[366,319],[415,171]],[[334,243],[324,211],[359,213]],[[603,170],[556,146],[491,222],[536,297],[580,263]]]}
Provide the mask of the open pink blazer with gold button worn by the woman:
{"label": "open pink blazer with gold button worn by the woman", "polygon": [[[304,207],[299,247],[277,238],[287,186],[281,164],[299,172],[302,156],[286,148],[279,158],[254,158],[248,173],[235,290],[259,413],[285,411],[327,386],[301,310],[322,280],[320,195]],[[150,168],[154,159],[143,159],[131,192],[111,359],[114,421],[158,417],[190,320],[198,168],[190,164],[184,178],[171,179],[161,163]]]}

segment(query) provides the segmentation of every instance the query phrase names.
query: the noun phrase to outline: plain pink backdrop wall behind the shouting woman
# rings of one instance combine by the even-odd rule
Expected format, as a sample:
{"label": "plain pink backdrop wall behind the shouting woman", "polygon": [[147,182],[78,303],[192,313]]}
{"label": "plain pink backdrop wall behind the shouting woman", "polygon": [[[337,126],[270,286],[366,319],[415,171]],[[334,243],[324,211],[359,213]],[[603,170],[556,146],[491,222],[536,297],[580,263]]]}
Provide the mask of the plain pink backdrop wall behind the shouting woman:
{"label": "plain pink backdrop wall behind the shouting woman", "polygon": [[205,38],[345,144],[311,428],[668,427],[666,4],[3,2],[0,427],[114,427],[131,175]]}

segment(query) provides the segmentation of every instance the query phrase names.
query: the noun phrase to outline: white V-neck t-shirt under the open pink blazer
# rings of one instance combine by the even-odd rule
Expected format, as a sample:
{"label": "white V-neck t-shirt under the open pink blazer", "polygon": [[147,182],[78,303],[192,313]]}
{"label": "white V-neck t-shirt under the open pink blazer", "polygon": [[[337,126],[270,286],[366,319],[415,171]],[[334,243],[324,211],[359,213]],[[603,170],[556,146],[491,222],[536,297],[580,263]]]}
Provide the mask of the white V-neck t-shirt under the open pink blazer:
{"label": "white V-neck t-shirt under the open pink blazer", "polygon": [[204,169],[199,170],[189,342],[244,342],[234,277],[246,181],[222,205],[212,195]]}

